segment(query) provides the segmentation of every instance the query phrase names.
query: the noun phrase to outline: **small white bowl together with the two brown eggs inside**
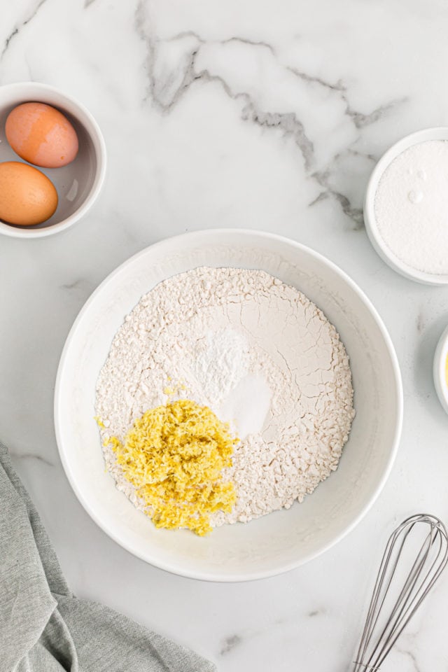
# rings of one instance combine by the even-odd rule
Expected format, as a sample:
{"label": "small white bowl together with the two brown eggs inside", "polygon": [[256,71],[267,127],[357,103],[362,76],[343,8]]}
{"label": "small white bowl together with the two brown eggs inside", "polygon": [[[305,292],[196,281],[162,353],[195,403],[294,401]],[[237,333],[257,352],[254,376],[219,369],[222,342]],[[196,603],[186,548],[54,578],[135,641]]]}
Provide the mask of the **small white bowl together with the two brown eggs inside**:
{"label": "small white bowl together with the two brown eggs inside", "polygon": [[0,233],[38,238],[69,228],[97,199],[106,146],[90,112],[54,87],[0,87]]}

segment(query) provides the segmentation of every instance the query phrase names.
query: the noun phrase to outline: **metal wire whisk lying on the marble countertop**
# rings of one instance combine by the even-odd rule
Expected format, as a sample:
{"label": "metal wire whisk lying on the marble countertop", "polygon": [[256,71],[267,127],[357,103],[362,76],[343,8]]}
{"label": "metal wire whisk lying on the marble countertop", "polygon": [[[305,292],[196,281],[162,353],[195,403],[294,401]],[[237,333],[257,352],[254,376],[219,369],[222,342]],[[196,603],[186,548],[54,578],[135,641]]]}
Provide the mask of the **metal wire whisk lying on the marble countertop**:
{"label": "metal wire whisk lying on the marble countertop", "polygon": [[384,551],[353,672],[376,672],[448,562],[447,530],[417,514],[391,534]]}

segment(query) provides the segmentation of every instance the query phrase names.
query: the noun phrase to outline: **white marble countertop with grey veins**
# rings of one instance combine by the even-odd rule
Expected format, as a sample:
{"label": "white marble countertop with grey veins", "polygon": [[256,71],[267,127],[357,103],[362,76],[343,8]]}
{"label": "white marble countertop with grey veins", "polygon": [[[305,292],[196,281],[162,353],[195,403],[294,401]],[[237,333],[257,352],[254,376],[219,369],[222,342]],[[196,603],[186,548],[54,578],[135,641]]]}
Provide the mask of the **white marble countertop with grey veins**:
{"label": "white marble countertop with grey veins", "polygon": [[[0,436],[73,591],[213,659],[221,672],[345,671],[388,533],[448,521],[448,416],[433,388],[448,288],[420,286],[370,246],[368,176],[404,134],[448,120],[442,0],[3,2],[0,84],[80,99],[109,154],[94,209],[52,237],[0,240]],[[163,237],[277,232],[340,265],[391,333],[405,390],[398,459],[342,542],[286,575],[209,584],[139,561],[87,516],[57,454],[52,397],[64,339],[92,290]],[[124,580],[124,577],[126,579]],[[384,670],[447,669],[448,574]]]}

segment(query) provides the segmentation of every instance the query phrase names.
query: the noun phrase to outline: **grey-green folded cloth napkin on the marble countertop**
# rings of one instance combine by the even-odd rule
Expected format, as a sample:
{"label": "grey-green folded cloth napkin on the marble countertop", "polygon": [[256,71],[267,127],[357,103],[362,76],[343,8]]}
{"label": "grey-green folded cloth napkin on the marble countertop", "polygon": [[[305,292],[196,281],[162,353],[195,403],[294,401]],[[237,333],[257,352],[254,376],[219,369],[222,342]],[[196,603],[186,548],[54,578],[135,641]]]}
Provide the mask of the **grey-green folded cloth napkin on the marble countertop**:
{"label": "grey-green folded cloth napkin on the marble countertop", "polygon": [[0,443],[0,672],[213,672],[197,654],[76,598]]}

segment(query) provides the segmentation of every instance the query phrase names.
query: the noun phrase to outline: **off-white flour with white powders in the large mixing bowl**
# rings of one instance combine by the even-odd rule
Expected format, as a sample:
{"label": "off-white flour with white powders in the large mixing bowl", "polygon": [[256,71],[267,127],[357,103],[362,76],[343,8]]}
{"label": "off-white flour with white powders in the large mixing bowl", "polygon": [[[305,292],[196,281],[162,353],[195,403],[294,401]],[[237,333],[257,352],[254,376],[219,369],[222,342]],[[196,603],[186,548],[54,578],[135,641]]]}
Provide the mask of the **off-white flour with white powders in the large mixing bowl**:
{"label": "off-white flour with white powders in the large mixing bowl", "polygon": [[[239,438],[224,481],[231,512],[211,524],[289,508],[337,468],[354,416],[349,358],[335,327],[293,287],[259,270],[197,268],[141,298],[113,339],[97,381],[102,440],[123,441],[148,409],[209,407]],[[111,445],[118,489],[148,507]]]}

